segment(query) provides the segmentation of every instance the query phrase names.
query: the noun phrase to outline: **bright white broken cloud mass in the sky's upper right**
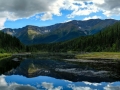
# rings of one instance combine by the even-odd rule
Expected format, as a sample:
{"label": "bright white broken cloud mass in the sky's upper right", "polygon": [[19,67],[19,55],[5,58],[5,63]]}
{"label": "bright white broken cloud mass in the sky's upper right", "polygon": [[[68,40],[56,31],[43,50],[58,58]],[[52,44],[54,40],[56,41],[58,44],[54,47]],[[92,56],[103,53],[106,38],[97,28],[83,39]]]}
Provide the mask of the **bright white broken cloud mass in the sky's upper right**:
{"label": "bright white broken cloud mass in the sky's upper right", "polygon": [[[72,0],[73,1],[73,0]],[[79,3],[80,6],[74,3]],[[87,5],[83,2],[88,2]],[[90,4],[92,2],[93,4]],[[96,13],[102,11],[107,17],[113,15],[120,16],[120,1],[119,0],[74,0],[72,4],[68,5],[70,10],[73,10],[68,18],[74,18],[75,16],[89,15],[91,13]]]}

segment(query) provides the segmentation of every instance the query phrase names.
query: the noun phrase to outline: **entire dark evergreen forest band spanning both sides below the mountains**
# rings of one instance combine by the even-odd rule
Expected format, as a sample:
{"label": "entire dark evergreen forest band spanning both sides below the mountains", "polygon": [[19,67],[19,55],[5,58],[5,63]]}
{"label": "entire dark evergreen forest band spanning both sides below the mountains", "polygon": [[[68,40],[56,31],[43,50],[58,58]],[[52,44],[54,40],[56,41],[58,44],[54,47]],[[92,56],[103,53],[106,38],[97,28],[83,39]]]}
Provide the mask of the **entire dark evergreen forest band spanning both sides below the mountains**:
{"label": "entire dark evergreen forest band spanning both sides below the mountains", "polygon": [[82,36],[65,42],[38,44],[32,46],[25,46],[16,37],[0,32],[0,53],[26,51],[120,51],[120,22],[117,22],[112,26],[104,28],[101,32],[95,35]]}

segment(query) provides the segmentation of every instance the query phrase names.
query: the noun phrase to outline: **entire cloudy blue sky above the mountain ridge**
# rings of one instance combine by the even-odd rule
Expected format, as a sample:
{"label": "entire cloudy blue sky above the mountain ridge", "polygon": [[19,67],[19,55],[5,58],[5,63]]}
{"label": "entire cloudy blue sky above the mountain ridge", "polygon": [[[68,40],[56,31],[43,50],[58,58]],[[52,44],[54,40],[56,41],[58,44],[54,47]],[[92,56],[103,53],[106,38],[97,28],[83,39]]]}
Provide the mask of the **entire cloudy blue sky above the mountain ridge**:
{"label": "entire cloudy blue sky above the mountain ridge", "polygon": [[0,29],[49,26],[70,20],[120,20],[119,0],[1,0]]}

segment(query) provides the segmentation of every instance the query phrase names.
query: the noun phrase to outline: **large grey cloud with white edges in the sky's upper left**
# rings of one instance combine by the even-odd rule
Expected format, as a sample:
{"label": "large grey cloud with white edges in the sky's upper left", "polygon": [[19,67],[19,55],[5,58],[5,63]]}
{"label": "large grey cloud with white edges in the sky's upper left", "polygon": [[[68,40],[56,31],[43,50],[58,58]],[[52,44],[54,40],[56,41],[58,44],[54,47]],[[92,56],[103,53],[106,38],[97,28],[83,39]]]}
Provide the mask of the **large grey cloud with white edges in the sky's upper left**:
{"label": "large grey cloud with white edges in the sky's upper left", "polygon": [[0,27],[4,27],[6,20],[29,18],[44,13],[41,20],[52,19],[53,15],[60,16],[64,0],[1,0]]}

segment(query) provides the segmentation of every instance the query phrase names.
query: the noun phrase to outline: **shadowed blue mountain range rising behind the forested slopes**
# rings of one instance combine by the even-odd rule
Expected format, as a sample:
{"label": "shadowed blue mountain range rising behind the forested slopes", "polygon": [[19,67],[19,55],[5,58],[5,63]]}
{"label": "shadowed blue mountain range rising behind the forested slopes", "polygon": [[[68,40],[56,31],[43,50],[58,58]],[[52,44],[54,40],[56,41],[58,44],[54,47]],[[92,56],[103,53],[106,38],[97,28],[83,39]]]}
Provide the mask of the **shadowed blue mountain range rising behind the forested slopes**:
{"label": "shadowed blue mountain range rising behind the forested slopes", "polygon": [[19,29],[6,28],[2,31],[17,37],[24,44],[53,43],[95,34],[115,22],[117,22],[117,20],[113,19],[73,20],[46,27],[28,25]]}

